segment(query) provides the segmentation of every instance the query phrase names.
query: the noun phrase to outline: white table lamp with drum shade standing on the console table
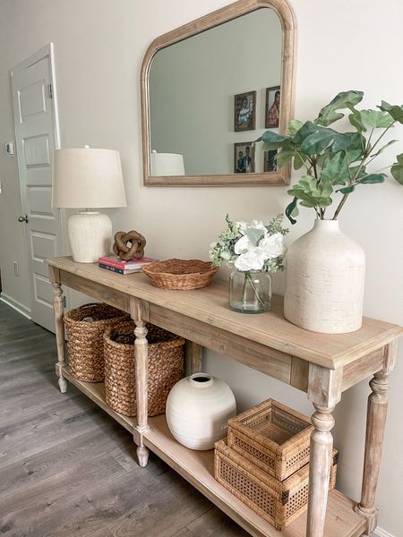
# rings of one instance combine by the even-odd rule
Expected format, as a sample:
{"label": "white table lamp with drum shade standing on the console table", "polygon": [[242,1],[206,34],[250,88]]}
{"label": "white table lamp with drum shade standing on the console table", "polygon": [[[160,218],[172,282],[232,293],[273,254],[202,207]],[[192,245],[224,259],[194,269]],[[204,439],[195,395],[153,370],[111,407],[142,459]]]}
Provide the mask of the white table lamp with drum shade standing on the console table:
{"label": "white table lamp with drum shade standing on the console table", "polygon": [[52,207],[86,208],[67,222],[74,261],[93,263],[109,254],[112,222],[93,209],[126,206],[119,152],[89,146],[56,149],[52,198]]}

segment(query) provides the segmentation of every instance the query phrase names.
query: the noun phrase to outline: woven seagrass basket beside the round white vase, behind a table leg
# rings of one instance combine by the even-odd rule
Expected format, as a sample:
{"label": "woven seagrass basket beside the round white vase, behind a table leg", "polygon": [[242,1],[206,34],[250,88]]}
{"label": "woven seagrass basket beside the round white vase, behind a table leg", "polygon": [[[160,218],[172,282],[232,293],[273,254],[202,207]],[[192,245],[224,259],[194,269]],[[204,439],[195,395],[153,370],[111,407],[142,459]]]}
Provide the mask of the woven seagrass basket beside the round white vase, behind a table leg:
{"label": "woven seagrass basket beside the round white vase, behind a table leg", "polygon": [[[167,396],[184,376],[184,338],[150,323],[148,330],[149,416],[165,413]],[[104,334],[107,405],[126,416],[136,415],[134,323],[128,321]]]}

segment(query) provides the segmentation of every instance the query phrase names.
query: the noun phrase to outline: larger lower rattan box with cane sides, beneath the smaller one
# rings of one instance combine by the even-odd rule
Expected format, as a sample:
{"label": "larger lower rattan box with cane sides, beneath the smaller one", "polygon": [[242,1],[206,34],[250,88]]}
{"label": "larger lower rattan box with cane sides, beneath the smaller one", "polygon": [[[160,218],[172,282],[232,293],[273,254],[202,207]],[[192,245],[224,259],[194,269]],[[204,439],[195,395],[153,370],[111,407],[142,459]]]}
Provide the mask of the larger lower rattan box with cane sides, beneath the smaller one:
{"label": "larger lower rattan box with cane sides, beneath the smaller one", "polygon": [[[338,452],[333,450],[330,489],[337,476]],[[284,530],[301,516],[308,503],[309,465],[279,482],[219,440],[215,445],[214,477],[277,530]]]}

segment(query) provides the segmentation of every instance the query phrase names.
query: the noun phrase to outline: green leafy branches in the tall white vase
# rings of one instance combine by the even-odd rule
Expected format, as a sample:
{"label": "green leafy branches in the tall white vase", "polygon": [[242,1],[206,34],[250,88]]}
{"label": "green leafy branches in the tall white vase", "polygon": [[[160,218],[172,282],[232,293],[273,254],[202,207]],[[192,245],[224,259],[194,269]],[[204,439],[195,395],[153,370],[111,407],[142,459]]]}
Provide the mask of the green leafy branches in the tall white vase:
{"label": "green leafy branches in the tall white vase", "polygon": [[[340,92],[329,105],[322,107],[314,121],[305,123],[294,119],[287,126],[287,135],[267,131],[257,141],[264,150],[277,149],[277,165],[286,166],[294,161],[294,168],[306,168],[306,173],[287,192],[293,200],[286,215],[296,224],[298,204],[313,208],[318,218],[324,219],[326,209],[333,203],[331,196],[340,192],[341,198],[332,216],[335,220],[348,196],[362,184],[383,183],[386,174],[367,170],[384,149],[397,140],[382,145],[382,139],[395,124],[403,124],[403,106],[382,101],[379,110],[358,110],[363,91]],[[342,119],[348,111],[352,132],[338,132],[330,124]],[[347,112],[347,113],[348,113]],[[391,175],[403,185],[403,153],[390,166]]]}

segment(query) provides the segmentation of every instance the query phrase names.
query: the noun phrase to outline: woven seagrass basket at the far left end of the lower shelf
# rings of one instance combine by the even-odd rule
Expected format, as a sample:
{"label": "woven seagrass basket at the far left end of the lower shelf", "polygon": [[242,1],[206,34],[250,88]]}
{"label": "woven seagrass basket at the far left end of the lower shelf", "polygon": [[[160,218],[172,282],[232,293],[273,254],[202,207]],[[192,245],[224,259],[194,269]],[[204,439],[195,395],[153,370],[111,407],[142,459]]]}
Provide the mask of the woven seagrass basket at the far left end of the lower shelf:
{"label": "woven seagrass basket at the far left end of the lower shelf", "polygon": [[74,379],[84,382],[104,379],[103,333],[127,319],[126,313],[104,303],[85,304],[65,313],[69,366]]}

